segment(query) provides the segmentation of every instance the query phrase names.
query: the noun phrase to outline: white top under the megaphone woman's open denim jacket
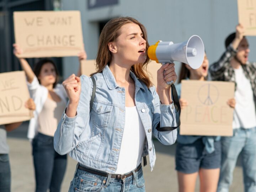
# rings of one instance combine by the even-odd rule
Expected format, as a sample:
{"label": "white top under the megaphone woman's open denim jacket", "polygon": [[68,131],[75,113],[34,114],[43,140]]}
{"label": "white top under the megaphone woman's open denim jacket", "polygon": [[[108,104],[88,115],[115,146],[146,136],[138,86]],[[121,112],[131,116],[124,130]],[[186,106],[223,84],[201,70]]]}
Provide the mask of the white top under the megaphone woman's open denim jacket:
{"label": "white top under the megaphone woman's open denim jacket", "polygon": [[146,134],[136,106],[126,107],[125,125],[116,174],[125,174],[141,163]]}

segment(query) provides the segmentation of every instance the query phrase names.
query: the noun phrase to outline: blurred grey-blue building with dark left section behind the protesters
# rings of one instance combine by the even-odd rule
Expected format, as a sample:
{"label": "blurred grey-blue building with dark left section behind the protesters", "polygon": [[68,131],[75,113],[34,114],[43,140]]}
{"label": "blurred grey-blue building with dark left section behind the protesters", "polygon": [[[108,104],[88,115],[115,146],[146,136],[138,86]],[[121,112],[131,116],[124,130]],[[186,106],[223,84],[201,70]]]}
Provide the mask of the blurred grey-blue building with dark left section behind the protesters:
{"label": "blurred grey-blue building with dark left section behind the protesters", "polygon": [[[142,22],[148,31],[149,44],[158,40],[178,43],[193,34],[199,35],[210,63],[219,59],[225,50],[225,37],[235,31],[238,23],[237,1],[233,0],[0,0],[0,72],[18,69],[11,47],[12,12],[22,10],[79,10],[88,59],[96,57],[98,37],[105,23],[118,16],[132,16]],[[256,38],[248,39],[249,60],[256,61],[256,55],[252,54]],[[58,68],[66,78],[77,72],[78,63],[76,57],[65,57]],[[176,63],[176,72],[179,67]]]}

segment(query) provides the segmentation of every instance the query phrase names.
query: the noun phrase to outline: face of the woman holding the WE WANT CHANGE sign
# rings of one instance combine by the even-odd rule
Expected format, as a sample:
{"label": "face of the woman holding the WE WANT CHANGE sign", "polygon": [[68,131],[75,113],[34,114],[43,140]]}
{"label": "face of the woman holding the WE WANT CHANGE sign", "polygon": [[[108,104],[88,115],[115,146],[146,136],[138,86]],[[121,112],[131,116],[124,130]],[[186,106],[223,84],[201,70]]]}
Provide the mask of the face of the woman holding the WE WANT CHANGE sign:
{"label": "face of the woman holding the WE WANT CHANGE sign", "polygon": [[48,86],[54,84],[56,81],[56,71],[52,63],[43,64],[38,79],[41,82],[41,85]]}

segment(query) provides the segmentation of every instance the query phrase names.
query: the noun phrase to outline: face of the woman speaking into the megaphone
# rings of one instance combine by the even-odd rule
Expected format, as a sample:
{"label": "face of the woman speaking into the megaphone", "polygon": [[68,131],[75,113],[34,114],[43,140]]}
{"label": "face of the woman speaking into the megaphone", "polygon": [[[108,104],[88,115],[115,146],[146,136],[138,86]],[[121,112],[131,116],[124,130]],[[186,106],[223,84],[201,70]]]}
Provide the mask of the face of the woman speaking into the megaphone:
{"label": "face of the woman speaking into the megaphone", "polygon": [[120,28],[120,36],[113,42],[113,56],[123,64],[144,63],[146,60],[146,41],[140,27],[135,23],[127,23]]}

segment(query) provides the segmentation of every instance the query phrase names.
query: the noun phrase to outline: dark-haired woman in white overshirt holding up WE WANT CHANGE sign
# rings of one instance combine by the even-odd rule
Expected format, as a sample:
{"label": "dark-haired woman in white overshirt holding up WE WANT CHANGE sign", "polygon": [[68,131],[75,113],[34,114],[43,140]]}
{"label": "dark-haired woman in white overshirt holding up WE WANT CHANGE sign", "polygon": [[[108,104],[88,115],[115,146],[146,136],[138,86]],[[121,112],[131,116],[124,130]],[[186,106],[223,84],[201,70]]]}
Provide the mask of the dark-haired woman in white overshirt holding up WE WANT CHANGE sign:
{"label": "dark-haired woman in white overshirt holding up WE WANT CHANGE sign", "polygon": [[[33,139],[36,188],[38,191],[46,191],[48,186],[50,186],[50,183],[46,183],[50,181],[50,178],[55,177],[55,175],[45,173],[54,173],[54,171],[52,171],[54,169],[57,170],[60,177],[62,177],[65,173],[66,156],[61,156],[56,152],[52,153],[52,151],[54,151],[52,145],[38,145],[38,142],[40,143],[41,140],[46,139],[53,142],[54,132],[66,106],[66,92],[62,85],[57,84],[58,71],[52,60],[40,60],[33,71],[26,59],[21,56],[23,55],[22,53],[23,49],[21,49],[18,44],[14,44],[14,54],[18,57],[26,73],[30,94],[37,106],[34,112],[34,118],[31,119],[29,124],[28,138]],[[87,57],[85,51],[78,53],[77,56],[80,62]],[[78,74],[80,73],[79,69]],[[48,161],[49,155],[47,153],[49,153],[49,151],[51,151],[50,154],[53,155],[52,158],[54,161]],[[59,162],[60,159],[61,161]],[[61,182],[62,178],[58,178],[54,184],[54,187],[58,187],[58,191]]]}

